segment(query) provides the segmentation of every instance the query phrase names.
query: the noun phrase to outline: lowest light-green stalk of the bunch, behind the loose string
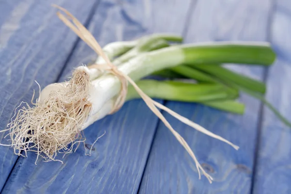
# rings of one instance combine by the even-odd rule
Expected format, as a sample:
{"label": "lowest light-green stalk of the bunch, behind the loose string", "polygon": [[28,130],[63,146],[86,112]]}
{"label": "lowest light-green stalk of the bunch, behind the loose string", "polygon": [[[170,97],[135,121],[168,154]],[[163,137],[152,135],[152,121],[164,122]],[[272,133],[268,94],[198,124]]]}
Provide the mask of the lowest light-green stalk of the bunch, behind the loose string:
{"label": "lowest light-green stalk of the bunch, behind the loose string", "polygon": [[[199,102],[204,105],[242,114],[244,105],[230,100],[237,97],[238,92],[217,84],[193,84],[180,81],[141,80],[137,85],[152,98],[182,102]],[[135,89],[129,86],[127,100],[140,98]]]}

